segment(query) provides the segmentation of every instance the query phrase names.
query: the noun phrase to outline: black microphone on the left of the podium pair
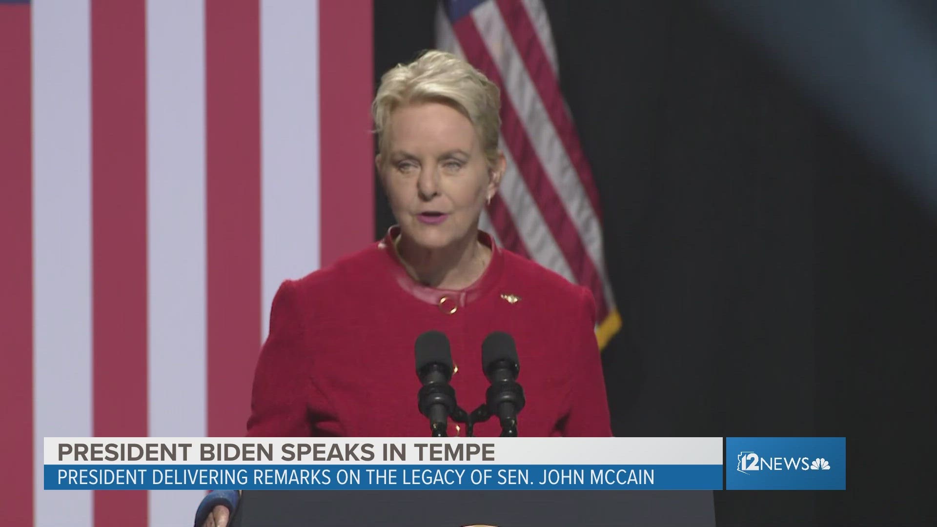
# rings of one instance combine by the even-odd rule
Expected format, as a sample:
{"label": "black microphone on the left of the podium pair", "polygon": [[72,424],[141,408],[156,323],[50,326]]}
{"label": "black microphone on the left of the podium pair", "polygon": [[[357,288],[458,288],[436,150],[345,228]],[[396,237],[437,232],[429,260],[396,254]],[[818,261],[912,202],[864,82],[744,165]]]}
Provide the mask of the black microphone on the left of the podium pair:
{"label": "black microphone on the left of the podium pair", "polygon": [[429,418],[432,437],[446,437],[447,419],[457,408],[455,390],[449,384],[453,378],[449,339],[440,331],[427,331],[417,337],[413,348],[416,375],[423,383],[417,394],[417,406]]}

